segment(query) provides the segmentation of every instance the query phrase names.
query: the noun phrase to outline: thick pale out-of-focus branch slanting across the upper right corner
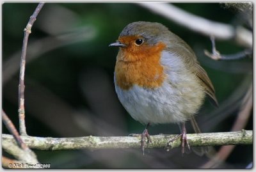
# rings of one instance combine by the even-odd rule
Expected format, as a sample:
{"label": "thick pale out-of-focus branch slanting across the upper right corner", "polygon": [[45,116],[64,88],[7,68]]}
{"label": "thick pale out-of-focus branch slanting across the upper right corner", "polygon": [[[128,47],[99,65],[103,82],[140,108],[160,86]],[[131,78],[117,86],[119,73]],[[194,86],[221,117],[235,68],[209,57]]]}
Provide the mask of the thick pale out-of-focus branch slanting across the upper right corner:
{"label": "thick pale out-of-focus branch slanting across the upper right corner", "polygon": [[237,43],[244,47],[252,48],[252,32],[243,28],[241,32],[241,26],[235,28],[228,24],[220,22],[214,22],[212,20],[204,19],[181,10],[172,4],[167,3],[137,3],[140,6],[148,8],[159,15],[163,15],[167,19],[170,19],[178,24],[188,27],[193,31],[201,33],[206,36],[214,36],[220,40],[235,39]]}

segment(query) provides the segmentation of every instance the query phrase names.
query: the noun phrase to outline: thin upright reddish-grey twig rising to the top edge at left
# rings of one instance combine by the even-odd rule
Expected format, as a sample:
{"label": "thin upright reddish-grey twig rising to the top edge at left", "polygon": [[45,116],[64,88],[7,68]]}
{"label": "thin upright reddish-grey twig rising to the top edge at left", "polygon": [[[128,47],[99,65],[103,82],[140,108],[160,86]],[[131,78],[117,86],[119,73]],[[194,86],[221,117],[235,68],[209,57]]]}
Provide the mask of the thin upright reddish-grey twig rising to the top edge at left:
{"label": "thin upright reddish-grey twig rising to the top edge at left", "polygon": [[25,125],[25,107],[24,107],[24,91],[25,91],[25,84],[24,84],[24,76],[25,76],[25,65],[26,65],[26,52],[28,46],[28,37],[31,33],[31,27],[33,26],[36,17],[44,3],[39,3],[36,7],[35,12],[31,15],[27,26],[24,29],[24,39],[22,45],[22,52],[21,52],[21,59],[20,59],[20,81],[19,81],[19,127],[20,127],[20,135],[27,135],[26,132],[26,125]]}

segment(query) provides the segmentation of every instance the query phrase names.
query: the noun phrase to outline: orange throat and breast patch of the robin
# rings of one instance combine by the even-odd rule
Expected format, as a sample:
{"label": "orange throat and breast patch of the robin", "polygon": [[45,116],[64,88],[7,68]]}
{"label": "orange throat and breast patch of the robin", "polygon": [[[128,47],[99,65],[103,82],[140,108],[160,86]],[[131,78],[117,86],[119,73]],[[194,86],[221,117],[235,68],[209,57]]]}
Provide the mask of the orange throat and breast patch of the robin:
{"label": "orange throat and breast patch of the robin", "polygon": [[128,90],[134,84],[144,88],[157,88],[164,81],[163,66],[160,64],[164,43],[157,45],[130,45],[120,48],[116,58],[115,82]]}

